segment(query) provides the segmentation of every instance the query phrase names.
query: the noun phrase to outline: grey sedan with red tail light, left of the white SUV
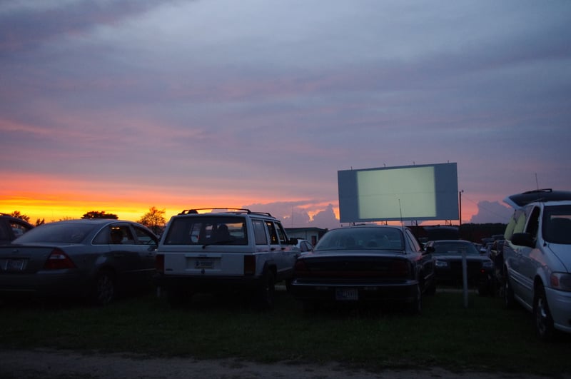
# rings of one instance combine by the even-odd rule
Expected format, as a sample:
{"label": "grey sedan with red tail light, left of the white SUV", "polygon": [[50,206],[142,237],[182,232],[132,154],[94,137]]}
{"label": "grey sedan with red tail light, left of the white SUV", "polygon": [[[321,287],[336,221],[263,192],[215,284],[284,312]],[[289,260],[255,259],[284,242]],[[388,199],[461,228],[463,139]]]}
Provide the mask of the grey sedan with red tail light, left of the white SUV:
{"label": "grey sedan with red tail light, left of the white SUV", "polygon": [[131,221],[37,226],[0,246],[0,296],[79,297],[105,305],[123,290],[152,283],[157,243],[148,228]]}

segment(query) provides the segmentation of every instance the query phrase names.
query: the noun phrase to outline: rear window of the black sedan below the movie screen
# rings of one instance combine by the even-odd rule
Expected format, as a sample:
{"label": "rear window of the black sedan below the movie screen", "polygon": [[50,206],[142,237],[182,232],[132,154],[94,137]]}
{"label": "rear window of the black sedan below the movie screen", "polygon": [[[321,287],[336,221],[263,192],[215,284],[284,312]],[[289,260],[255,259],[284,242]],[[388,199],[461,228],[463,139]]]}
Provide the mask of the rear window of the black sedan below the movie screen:
{"label": "rear window of the black sedan below the movie screen", "polygon": [[324,250],[404,250],[399,228],[343,228],[325,233],[314,251]]}

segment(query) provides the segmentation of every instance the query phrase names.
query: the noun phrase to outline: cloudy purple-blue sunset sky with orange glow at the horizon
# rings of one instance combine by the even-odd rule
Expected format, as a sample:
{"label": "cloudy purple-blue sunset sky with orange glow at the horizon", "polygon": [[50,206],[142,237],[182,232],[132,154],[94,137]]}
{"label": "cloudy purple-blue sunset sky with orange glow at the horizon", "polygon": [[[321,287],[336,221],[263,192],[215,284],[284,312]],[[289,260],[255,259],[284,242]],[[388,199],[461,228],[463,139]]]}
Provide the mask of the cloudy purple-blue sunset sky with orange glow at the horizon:
{"label": "cloudy purple-blue sunset sky with orange glow at the horizon", "polygon": [[567,0],[0,0],[0,212],[335,228],[338,171],[457,163],[461,222],[505,223],[506,196],[571,190],[570,20]]}

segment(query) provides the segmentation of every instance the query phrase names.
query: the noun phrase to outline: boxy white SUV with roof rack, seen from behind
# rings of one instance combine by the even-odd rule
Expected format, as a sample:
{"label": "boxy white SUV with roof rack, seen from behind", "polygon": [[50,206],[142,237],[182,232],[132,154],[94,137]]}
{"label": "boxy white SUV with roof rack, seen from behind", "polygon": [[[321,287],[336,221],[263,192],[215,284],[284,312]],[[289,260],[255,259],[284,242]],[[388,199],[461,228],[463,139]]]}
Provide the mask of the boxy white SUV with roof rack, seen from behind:
{"label": "boxy white SUV with roof rack, seen from behind", "polygon": [[156,256],[156,284],[171,305],[194,293],[242,290],[271,308],[275,284],[289,285],[299,251],[281,222],[248,209],[186,210],[173,216]]}

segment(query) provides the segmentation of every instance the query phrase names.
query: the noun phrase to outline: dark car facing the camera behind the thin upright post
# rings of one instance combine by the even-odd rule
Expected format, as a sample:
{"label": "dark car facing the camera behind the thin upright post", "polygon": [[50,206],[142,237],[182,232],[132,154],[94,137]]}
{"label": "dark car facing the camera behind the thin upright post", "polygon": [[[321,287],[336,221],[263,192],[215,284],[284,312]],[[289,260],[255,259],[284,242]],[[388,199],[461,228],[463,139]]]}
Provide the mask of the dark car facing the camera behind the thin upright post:
{"label": "dark car facing the camera behind the thin upright post", "polygon": [[477,286],[480,295],[495,293],[494,263],[485,254],[480,253],[470,241],[442,240],[429,241],[425,250],[432,253],[436,260],[436,281],[450,285],[463,283],[463,254],[466,256],[468,285]]}

